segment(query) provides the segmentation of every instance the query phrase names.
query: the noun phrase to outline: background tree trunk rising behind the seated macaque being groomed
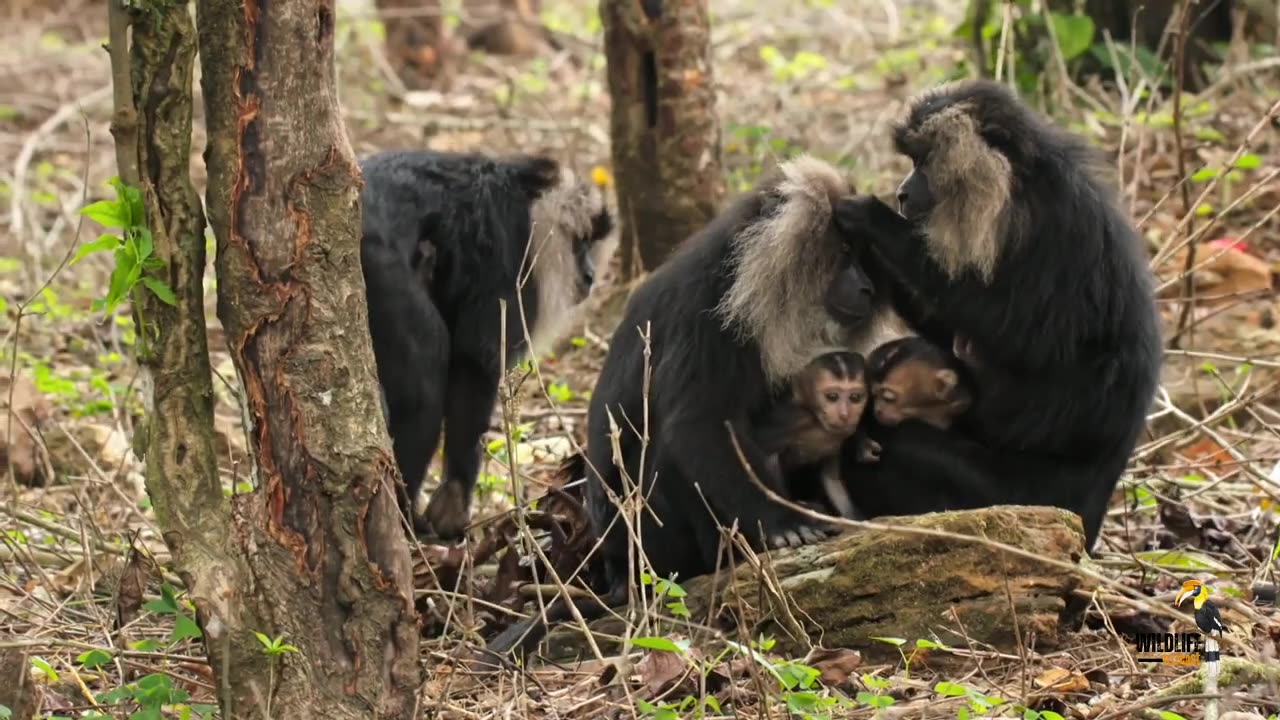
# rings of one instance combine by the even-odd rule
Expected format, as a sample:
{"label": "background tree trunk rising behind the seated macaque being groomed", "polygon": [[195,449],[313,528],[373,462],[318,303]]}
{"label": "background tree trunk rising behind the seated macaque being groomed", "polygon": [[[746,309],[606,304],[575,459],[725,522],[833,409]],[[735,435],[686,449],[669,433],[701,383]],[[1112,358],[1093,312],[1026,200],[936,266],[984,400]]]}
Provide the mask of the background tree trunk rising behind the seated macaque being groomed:
{"label": "background tree trunk rising behind the seated macaque being groomed", "polygon": [[662,264],[724,196],[705,0],[600,0],[622,273]]}

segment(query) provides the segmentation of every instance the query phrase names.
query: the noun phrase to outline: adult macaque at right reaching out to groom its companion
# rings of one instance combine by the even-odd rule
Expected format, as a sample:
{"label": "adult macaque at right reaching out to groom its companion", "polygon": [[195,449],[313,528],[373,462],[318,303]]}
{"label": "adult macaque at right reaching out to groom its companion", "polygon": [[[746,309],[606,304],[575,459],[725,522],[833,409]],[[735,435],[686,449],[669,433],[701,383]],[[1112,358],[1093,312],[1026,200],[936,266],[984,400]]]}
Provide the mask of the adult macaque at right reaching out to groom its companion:
{"label": "adult macaque at right reaching out to groom its companion", "polygon": [[854,502],[873,516],[1052,505],[1092,547],[1161,363],[1153,282],[1106,164],[987,81],[923,95],[893,141],[914,163],[902,214],[856,196],[837,223],[869,242],[908,323],[941,347],[961,334],[982,363],[950,432],[881,433],[874,465],[846,446]]}

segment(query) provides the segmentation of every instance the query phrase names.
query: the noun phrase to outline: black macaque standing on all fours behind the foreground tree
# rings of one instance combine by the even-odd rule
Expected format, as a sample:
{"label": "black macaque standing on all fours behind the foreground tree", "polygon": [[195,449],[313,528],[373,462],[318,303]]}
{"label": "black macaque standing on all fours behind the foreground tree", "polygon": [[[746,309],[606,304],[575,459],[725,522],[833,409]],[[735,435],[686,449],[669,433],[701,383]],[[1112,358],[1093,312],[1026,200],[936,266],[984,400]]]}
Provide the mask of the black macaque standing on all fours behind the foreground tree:
{"label": "black macaque standing on all fours behind the foreground tree", "polygon": [[369,329],[404,510],[413,516],[444,420],[444,482],[429,523],[415,518],[415,527],[457,538],[504,370],[503,340],[508,366],[529,354],[521,306],[532,351],[561,334],[612,250],[602,242],[612,215],[599,188],[549,158],[385,151],[361,169]]}

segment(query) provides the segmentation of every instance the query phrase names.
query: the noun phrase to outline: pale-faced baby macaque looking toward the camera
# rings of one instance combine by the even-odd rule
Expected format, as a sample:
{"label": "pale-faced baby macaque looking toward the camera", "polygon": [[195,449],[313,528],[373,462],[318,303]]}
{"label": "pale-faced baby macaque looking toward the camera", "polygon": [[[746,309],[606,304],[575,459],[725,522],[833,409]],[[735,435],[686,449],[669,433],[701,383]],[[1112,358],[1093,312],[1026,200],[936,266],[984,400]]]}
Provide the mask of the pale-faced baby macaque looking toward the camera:
{"label": "pale-faced baby macaque looking toward the camera", "polygon": [[[865,369],[856,352],[814,357],[791,379],[790,397],[774,407],[758,433],[773,477],[785,479],[796,468],[819,464],[823,492],[845,518],[854,518],[855,511],[840,477],[840,447],[858,432],[867,409]],[[865,443],[860,446],[863,457],[874,460],[879,446],[865,437],[859,442]],[[776,489],[791,496],[790,488]]]}

